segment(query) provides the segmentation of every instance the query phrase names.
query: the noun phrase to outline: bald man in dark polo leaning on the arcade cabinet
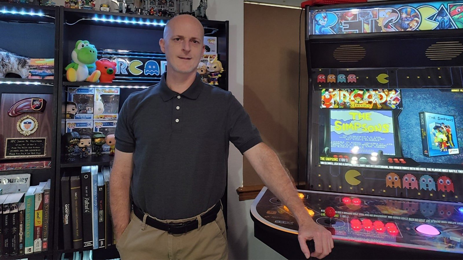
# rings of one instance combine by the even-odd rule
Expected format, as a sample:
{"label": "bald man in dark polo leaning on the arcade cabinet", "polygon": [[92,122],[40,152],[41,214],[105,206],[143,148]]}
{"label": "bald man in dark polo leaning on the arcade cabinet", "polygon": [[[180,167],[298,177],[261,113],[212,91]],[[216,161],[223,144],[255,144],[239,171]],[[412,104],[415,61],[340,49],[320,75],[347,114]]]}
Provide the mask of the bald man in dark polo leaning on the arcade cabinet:
{"label": "bald man in dark polo leaning on the arcade cabinet", "polygon": [[[228,91],[201,81],[204,29],[191,15],[169,20],[159,44],[167,72],[132,93],[119,113],[111,173],[111,212],[122,259],[226,259],[220,198],[229,143],[294,213],[301,250],[331,252],[331,233],[314,223],[275,152],[262,142],[243,106]],[[130,210],[133,201],[134,210]]]}

